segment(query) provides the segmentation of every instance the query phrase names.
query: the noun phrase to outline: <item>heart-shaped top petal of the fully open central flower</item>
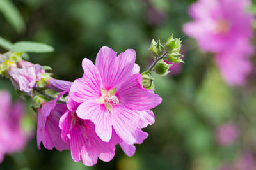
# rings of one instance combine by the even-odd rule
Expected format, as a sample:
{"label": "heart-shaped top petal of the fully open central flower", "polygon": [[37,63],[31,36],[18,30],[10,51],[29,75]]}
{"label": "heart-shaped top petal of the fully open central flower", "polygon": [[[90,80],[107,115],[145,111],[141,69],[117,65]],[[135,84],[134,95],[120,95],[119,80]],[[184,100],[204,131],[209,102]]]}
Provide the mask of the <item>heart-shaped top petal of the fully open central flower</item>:
{"label": "heart-shaped top petal of the fully open central flower", "polygon": [[111,48],[106,46],[100,48],[96,58],[96,67],[102,77],[104,88],[112,89],[127,76],[130,76],[135,59],[136,52],[132,49],[128,49],[116,57],[116,52]]}

